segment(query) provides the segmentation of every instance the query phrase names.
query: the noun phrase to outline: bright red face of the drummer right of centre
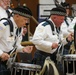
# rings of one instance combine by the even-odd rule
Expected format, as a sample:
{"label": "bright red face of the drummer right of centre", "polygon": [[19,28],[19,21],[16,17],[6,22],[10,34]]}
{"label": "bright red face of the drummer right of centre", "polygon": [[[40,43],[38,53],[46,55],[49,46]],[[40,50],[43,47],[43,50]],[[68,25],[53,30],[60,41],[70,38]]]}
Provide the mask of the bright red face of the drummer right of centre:
{"label": "bright red face of the drummer right of centre", "polygon": [[65,19],[65,16],[54,15],[53,22],[55,23],[56,27],[60,27]]}

